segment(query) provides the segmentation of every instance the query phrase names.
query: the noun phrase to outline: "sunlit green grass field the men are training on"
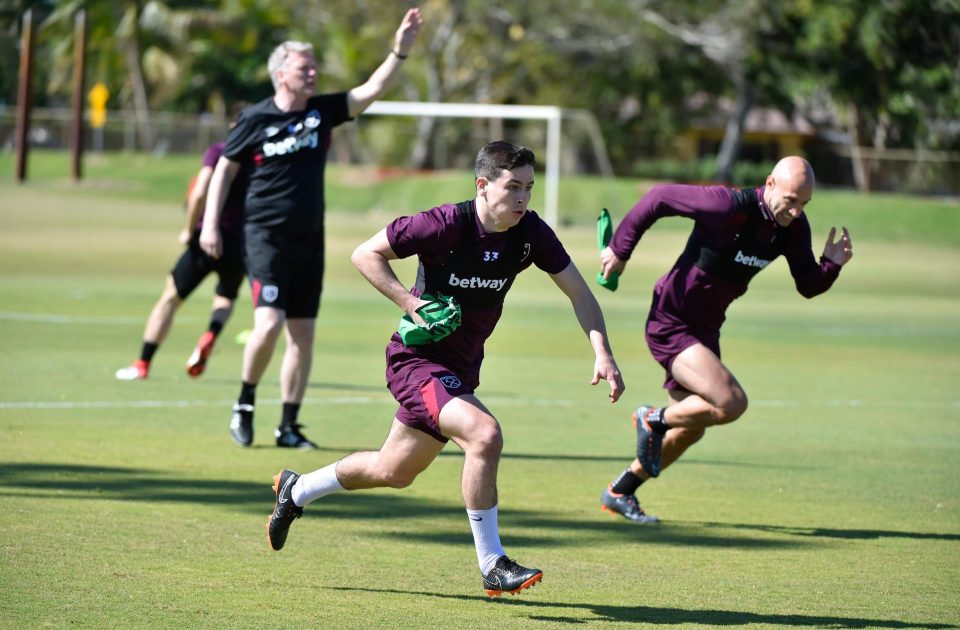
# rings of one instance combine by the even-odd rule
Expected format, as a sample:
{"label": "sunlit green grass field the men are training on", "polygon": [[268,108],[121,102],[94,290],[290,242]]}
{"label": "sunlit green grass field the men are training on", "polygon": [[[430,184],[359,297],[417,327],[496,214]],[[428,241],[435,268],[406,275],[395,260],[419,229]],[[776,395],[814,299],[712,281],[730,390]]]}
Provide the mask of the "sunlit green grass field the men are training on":
{"label": "sunlit green grass field the men are training on", "polygon": [[[302,412],[322,448],[291,453],[270,446],[278,360],[254,447],[227,432],[246,289],[202,378],[183,362],[210,280],[150,379],[113,379],[179,254],[197,160],[125,158],[109,176],[91,164],[74,186],[63,156],[40,155],[27,185],[0,179],[0,627],[960,627],[956,203],[818,191],[814,243],[842,222],[856,257],[812,301],[778,262],[731,308],[724,358],[751,408],[641,488],[658,527],[610,519],[599,496],[631,457],[631,405],[662,401],[642,322],[688,224],[657,226],[621,289],[598,289],[627,382],[617,405],[588,384],[592,354],[562,294],[520,276],[478,394],[505,433],[504,546],[545,578],[500,601],[480,588],[454,446],[406,490],[311,505],[280,553],[263,529],[278,469],[378,447],[395,409],[383,346],[399,314],[349,252],[397,212],[466,198],[469,175],[374,187],[332,174]],[[0,172],[11,164],[0,154]],[[622,216],[645,184],[564,186],[559,233],[589,278],[598,206]]]}

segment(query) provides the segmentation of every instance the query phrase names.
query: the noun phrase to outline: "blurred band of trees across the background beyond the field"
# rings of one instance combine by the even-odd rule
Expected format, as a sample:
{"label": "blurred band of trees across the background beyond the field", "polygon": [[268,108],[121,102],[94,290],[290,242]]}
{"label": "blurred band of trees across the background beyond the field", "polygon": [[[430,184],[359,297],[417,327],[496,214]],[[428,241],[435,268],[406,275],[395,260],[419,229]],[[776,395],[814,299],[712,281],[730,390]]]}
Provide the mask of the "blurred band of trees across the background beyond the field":
{"label": "blurred band of trees across the background beyond the field", "polygon": [[[676,158],[679,137],[712,125],[688,153],[706,159],[701,175],[730,181],[738,158],[775,157],[744,151],[761,111],[847,145],[861,188],[878,163],[864,149],[960,150],[960,0],[0,0],[0,102],[16,102],[27,9],[35,105],[69,105],[84,9],[87,85],[103,82],[111,109],[148,121],[264,98],[267,57],[286,39],[314,44],[321,91],[352,87],[411,6],[425,29],[388,98],[589,110],[618,174]],[[420,120],[403,140],[409,166],[434,166],[438,128]]]}

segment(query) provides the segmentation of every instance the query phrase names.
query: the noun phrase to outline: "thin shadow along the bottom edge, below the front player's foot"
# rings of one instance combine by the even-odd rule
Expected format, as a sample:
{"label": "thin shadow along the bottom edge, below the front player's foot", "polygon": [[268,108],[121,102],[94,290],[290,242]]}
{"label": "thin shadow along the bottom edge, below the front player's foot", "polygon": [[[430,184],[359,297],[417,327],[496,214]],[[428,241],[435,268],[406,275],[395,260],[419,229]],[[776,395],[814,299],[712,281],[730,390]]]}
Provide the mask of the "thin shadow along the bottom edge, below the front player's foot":
{"label": "thin shadow along the bottom edge, below the front player's foot", "polygon": [[[677,625],[700,624],[705,626],[745,626],[750,624],[767,624],[782,627],[814,627],[814,628],[956,628],[946,623],[916,623],[899,621],[896,619],[866,619],[859,617],[831,617],[827,615],[778,615],[752,613],[737,610],[710,610],[685,608],[660,608],[654,606],[613,606],[604,604],[577,604],[538,602],[529,599],[491,599],[481,595],[447,595],[444,593],[427,593],[423,591],[403,591],[399,589],[372,589],[351,586],[326,586],[331,591],[366,592],[376,595],[396,594],[405,597],[415,595],[440,599],[454,599],[461,601],[489,602],[491,605],[516,606],[531,609],[529,619],[532,621],[549,621],[553,623],[585,624],[598,621],[615,621],[624,623],[644,623],[650,625]],[[549,615],[538,615],[536,609],[542,608]],[[569,617],[556,615],[557,609],[569,610]]]}

